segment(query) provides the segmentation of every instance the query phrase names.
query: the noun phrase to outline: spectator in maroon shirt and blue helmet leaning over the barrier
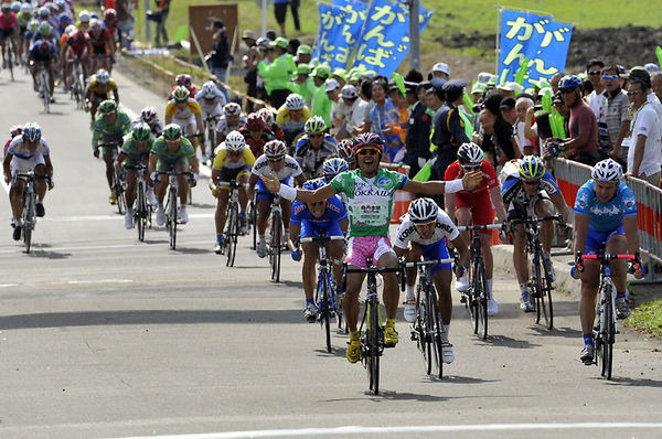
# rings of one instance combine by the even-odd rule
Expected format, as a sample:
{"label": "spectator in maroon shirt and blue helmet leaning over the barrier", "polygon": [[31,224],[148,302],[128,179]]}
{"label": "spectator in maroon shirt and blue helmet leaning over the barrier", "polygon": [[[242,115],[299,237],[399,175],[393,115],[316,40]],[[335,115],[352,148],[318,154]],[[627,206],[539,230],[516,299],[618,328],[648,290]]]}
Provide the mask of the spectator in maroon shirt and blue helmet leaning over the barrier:
{"label": "spectator in maroon shirt and blue helmet leaning over the barrier", "polygon": [[[559,156],[592,167],[601,160],[598,141],[596,115],[581,99],[581,79],[577,76],[564,76],[558,83],[563,103],[570,109],[568,121],[569,138],[560,141],[564,150]],[[552,139],[546,140],[546,144]]]}

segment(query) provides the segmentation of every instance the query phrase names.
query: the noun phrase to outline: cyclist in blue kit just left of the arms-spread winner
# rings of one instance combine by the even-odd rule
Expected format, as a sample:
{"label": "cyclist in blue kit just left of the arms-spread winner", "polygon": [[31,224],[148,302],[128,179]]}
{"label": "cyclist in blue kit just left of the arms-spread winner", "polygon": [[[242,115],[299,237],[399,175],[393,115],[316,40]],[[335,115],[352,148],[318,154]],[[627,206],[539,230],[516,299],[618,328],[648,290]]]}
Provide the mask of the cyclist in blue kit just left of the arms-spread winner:
{"label": "cyclist in blue kit just left of the arms-spread winner", "polygon": [[[308,180],[301,189],[314,191],[327,185],[324,179]],[[317,203],[302,203],[296,201],[292,203],[290,216],[289,239],[293,246],[292,259],[300,260],[301,251],[299,248],[300,238],[317,236],[343,236],[348,232],[348,211],[338,196],[331,196],[329,200],[322,200]],[[317,243],[301,243],[303,249],[303,266],[301,267],[301,278],[303,279],[303,292],[306,295],[306,308],[303,317],[309,323],[314,323],[318,307],[314,303],[313,293],[316,287],[316,264],[320,257]],[[327,244],[327,255],[340,261],[344,249],[344,239],[329,240]],[[343,296],[342,291],[342,266],[332,264],[333,275],[337,282],[337,299]],[[331,292],[329,292],[331,293]]]}

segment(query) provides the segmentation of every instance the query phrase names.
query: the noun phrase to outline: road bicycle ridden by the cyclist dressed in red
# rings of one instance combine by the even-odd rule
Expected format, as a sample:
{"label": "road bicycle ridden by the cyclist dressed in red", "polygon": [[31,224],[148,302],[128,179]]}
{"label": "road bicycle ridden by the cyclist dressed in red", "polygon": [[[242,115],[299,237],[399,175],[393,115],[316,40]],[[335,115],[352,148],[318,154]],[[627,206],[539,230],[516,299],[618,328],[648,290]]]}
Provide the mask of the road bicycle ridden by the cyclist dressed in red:
{"label": "road bicycle ridden by the cyclist dressed in red", "polygon": [[482,247],[480,243],[480,231],[501,229],[501,224],[459,226],[460,232],[470,233],[471,245],[469,247],[469,289],[462,292],[460,302],[469,312],[473,333],[479,334],[483,340],[488,339],[488,274],[485,263],[482,257]]}

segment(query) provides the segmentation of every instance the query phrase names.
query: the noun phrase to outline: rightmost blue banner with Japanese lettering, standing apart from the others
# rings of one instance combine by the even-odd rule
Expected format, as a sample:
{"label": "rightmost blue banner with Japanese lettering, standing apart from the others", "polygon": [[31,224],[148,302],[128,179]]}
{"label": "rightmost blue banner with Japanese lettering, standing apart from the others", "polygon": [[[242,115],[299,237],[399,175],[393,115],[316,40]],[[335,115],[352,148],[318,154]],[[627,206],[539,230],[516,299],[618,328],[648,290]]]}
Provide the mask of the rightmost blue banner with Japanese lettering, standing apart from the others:
{"label": "rightmost blue banner with Japanese lettering, standing apart from the others", "polygon": [[530,79],[551,78],[563,72],[572,35],[572,24],[554,22],[551,17],[502,11],[499,82],[514,81],[524,57],[528,60],[522,84],[525,88]]}

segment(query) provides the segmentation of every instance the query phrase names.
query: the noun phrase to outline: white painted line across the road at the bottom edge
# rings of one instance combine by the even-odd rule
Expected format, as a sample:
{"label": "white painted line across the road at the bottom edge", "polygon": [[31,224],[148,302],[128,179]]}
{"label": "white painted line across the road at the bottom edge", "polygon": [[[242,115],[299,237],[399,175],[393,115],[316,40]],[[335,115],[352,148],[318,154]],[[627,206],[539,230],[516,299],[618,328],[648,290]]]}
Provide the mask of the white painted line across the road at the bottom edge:
{"label": "white painted line across the road at the bottom edge", "polygon": [[463,431],[521,431],[521,430],[612,430],[612,429],[658,429],[662,424],[654,422],[581,422],[581,424],[485,424],[459,426],[403,426],[403,427],[361,427],[346,426],[335,428],[301,428],[282,430],[229,431],[197,435],[143,436],[122,439],[235,439],[235,438],[276,438],[295,436],[345,436],[367,433],[414,433],[414,432],[463,432]]}

